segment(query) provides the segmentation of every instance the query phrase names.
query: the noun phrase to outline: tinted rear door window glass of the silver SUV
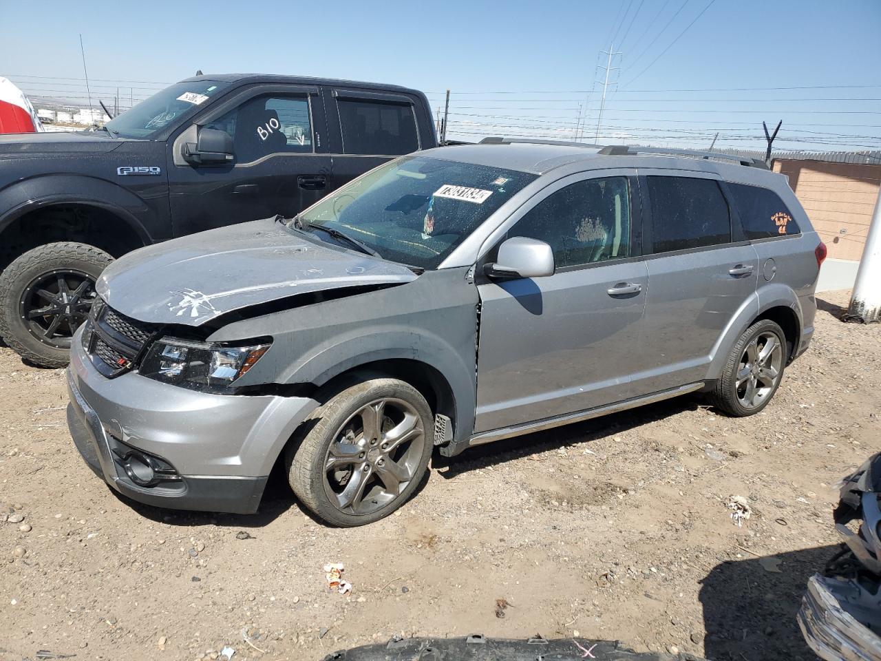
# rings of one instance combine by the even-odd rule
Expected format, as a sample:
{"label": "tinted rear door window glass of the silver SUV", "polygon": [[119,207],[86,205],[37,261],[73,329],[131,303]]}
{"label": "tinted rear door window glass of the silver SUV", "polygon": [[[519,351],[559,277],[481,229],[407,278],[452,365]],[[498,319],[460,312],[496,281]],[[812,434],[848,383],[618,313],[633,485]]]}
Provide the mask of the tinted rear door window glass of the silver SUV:
{"label": "tinted rear door window glass of the silver SUV", "polygon": [[731,241],[731,219],[722,189],[712,179],[648,177],[655,253]]}

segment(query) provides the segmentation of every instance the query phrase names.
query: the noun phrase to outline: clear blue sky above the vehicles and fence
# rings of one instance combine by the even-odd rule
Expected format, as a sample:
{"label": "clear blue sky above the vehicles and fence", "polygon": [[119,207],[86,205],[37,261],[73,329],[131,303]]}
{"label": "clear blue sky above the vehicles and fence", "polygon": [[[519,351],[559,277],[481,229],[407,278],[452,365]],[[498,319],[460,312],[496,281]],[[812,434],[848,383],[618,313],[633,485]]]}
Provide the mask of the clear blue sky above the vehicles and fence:
{"label": "clear blue sky above the vehicles and fence", "polygon": [[[775,147],[881,148],[879,0],[0,0],[0,25],[0,75],[32,97],[85,94],[82,33],[104,100],[197,69],[296,73],[411,85],[434,107],[449,88],[450,137],[591,142],[614,37],[601,142],[707,147],[719,130],[718,146],[763,149],[761,121],[782,119]],[[806,89],[758,89],[773,87]]]}

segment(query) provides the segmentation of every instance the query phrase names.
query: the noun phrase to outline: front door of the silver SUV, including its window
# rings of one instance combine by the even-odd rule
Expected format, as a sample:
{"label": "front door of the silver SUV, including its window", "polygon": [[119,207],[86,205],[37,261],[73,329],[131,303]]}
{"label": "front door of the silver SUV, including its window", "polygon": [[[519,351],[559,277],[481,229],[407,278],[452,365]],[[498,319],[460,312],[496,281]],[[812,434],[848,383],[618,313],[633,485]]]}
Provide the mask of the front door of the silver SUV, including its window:
{"label": "front door of the silver SUV, including its window", "polygon": [[568,177],[508,230],[551,244],[557,271],[478,285],[476,432],[629,396],[648,284],[632,175]]}

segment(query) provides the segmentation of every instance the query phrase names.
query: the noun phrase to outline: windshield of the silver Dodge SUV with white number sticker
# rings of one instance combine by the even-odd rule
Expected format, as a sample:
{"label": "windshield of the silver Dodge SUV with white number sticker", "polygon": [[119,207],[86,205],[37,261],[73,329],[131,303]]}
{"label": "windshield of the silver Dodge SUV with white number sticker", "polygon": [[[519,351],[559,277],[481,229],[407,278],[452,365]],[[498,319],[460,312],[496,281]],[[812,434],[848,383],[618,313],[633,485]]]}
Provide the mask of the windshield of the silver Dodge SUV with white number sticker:
{"label": "windshield of the silver Dodge SUV with white number sticker", "polygon": [[433,269],[535,179],[500,167],[403,156],[324,197],[299,218],[306,226],[351,236],[385,259]]}

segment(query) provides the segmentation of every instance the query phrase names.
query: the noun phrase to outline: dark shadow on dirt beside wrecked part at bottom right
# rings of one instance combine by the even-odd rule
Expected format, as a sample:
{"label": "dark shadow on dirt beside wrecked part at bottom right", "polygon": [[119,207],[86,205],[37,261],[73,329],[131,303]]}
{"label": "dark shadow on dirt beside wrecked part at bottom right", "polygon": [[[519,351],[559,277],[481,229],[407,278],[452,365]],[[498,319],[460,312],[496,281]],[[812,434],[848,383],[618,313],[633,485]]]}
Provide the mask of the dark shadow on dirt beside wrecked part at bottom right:
{"label": "dark shadow on dirt beside wrecked part at bottom right", "polygon": [[[759,558],[727,561],[701,582],[704,656],[713,661],[817,661],[798,628],[808,578],[822,572],[839,545],[779,553],[780,573]],[[772,557],[772,556],[768,556]]]}

